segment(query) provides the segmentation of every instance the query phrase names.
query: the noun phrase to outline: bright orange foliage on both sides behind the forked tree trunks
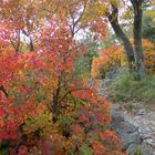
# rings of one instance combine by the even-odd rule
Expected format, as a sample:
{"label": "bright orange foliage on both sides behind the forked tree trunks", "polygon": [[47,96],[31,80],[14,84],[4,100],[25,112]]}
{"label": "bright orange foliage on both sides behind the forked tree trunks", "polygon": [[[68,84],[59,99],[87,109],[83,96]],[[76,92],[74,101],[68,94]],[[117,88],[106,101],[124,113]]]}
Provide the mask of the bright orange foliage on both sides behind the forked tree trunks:
{"label": "bright orange foliage on both sides behind the forked tree trunks", "polygon": [[[148,74],[155,73],[155,45],[148,40],[142,40],[144,50],[144,63]],[[111,68],[127,66],[123,46],[111,44],[106,49],[99,50],[100,56],[93,59],[91,74],[93,78],[104,78]]]}

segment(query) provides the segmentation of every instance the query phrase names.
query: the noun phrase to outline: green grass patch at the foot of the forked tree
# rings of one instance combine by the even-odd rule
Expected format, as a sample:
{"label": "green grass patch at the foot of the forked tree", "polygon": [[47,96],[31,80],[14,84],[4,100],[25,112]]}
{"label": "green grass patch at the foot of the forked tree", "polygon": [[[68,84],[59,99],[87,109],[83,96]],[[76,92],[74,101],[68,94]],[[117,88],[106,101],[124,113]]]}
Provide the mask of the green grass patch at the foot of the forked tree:
{"label": "green grass patch at the foot of the forked tree", "polygon": [[155,75],[135,81],[128,72],[125,72],[116,78],[108,85],[108,89],[113,90],[111,97],[115,102],[127,100],[155,101]]}

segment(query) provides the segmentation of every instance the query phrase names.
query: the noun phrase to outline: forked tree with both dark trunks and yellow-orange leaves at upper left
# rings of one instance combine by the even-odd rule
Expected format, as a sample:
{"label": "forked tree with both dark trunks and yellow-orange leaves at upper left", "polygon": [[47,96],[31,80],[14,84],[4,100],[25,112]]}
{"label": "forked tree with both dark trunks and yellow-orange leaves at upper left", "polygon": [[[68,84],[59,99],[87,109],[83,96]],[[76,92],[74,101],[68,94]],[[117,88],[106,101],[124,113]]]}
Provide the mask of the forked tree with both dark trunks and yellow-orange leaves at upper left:
{"label": "forked tree with both dark trunks and yellow-orange leaves at upper left", "polygon": [[[130,69],[135,71],[137,79],[145,76],[145,65],[143,59],[142,48],[142,18],[143,6],[146,3],[144,0],[102,0],[102,1],[89,1],[89,7],[85,13],[90,19],[97,21],[96,18],[106,18],[111,23],[116,37],[123,42],[126,58],[130,63]],[[120,14],[130,9],[133,13],[133,39],[134,43],[130,41],[127,34],[123,31],[120,21]],[[95,11],[95,14],[93,13]],[[85,20],[83,19],[83,20]],[[89,19],[89,18],[87,18]]]}

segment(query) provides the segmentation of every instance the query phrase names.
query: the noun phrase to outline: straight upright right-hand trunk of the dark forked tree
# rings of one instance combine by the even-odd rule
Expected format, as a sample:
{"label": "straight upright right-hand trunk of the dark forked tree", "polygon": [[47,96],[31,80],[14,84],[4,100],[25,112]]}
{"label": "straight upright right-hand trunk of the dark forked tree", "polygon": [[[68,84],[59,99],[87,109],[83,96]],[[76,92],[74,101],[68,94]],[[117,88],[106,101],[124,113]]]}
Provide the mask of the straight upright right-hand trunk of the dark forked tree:
{"label": "straight upright right-hand trunk of the dark forked tree", "polygon": [[134,8],[134,53],[135,53],[135,69],[136,69],[136,79],[144,79],[145,65],[144,65],[144,55],[142,46],[142,2],[143,0],[131,0]]}

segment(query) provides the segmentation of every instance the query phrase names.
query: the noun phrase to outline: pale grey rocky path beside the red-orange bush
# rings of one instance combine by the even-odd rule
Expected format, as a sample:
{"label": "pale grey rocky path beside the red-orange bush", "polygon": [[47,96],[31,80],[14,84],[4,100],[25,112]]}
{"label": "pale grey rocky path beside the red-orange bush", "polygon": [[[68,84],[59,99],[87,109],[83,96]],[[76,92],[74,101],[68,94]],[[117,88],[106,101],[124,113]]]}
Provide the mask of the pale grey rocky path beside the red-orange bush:
{"label": "pale grey rocky path beside the red-orange bush", "polygon": [[[99,94],[108,99],[103,87]],[[155,107],[144,103],[113,103],[111,127],[121,137],[127,155],[155,155]],[[127,107],[132,107],[128,110]]]}

